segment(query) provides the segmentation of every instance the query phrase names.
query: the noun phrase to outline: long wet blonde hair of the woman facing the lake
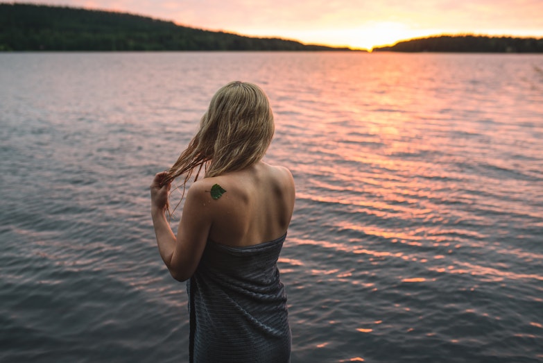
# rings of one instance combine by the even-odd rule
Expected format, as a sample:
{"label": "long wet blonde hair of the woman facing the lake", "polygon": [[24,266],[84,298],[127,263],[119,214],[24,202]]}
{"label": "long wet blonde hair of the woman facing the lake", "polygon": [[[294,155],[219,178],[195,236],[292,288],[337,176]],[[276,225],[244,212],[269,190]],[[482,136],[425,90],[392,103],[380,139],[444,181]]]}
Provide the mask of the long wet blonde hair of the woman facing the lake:
{"label": "long wet blonde hair of the woman facing the lake", "polygon": [[200,120],[200,129],[175,164],[164,184],[184,175],[183,189],[196,170],[205,177],[249,167],[270,146],[275,126],[268,97],[257,85],[234,81],[221,87]]}

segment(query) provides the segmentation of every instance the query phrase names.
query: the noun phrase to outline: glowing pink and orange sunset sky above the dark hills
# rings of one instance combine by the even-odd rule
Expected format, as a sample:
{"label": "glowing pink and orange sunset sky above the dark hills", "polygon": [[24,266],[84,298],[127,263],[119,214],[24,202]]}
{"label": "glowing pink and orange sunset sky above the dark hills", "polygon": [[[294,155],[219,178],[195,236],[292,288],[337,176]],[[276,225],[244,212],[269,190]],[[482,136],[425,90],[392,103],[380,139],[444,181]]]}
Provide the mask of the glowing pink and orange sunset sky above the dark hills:
{"label": "glowing pink and orange sunset sky above the dark hills", "polygon": [[[21,1],[24,2],[24,1]],[[33,0],[181,25],[371,49],[442,33],[543,37],[542,0]]]}

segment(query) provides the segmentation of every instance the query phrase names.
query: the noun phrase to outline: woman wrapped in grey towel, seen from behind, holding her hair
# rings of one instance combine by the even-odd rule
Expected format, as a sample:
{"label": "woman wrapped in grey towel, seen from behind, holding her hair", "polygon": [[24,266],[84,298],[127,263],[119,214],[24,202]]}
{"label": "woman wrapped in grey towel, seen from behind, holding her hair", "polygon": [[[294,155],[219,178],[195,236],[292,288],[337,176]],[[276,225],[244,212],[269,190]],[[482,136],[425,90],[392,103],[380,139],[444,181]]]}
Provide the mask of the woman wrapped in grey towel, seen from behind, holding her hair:
{"label": "woman wrapped in grey towel, seen from behind, holding her hair", "polygon": [[[277,258],[295,189],[288,169],[261,160],[273,132],[266,94],[251,83],[229,83],[177,162],[150,185],[160,256],[173,278],[189,280],[191,362],[290,360]],[[184,188],[193,171],[175,236],[166,219],[171,180],[184,175]]]}

